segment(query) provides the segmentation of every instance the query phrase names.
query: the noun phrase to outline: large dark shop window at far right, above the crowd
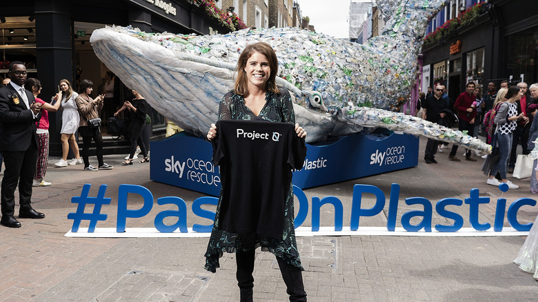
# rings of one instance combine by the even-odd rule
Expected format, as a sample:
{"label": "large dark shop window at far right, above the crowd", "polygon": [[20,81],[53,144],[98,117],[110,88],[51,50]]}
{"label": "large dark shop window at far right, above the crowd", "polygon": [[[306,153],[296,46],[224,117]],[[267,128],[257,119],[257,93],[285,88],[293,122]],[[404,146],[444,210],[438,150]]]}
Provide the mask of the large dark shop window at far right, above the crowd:
{"label": "large dark shop window at far right, above the crowd", "polygon": [[506,73],[502,77],[512,77],[513,82],[523,80],[528,83],[538,82],[538,26],[506,37]]}

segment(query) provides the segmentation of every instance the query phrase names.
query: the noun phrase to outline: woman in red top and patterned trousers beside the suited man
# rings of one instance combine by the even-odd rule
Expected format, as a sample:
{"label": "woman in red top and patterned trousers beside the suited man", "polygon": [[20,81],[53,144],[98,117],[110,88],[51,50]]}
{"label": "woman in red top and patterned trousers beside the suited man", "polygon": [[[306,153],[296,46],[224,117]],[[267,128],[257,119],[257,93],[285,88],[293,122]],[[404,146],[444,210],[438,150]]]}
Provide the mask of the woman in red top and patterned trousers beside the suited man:
{"label": "woman in red top and patterned trousers beside the suited man", "polygon": [[36,123],[37,126],[37,139],[39,142],[37,152],[37,162],[35,166],[34,187],[46,187],[51,185],[50,182],[45,181],[45,174],[47,173],[48,165],[48,147],[50,143],[50,136],[48,133],[48,112],[57,112],[60,107],[60,102],[56,101],[54,104],[47,103],[37,97],[41,93],[41,82],[35,78],[28,78],[24,82],[24,87],[32,91],[35,101],[41,104],[41,119]]}

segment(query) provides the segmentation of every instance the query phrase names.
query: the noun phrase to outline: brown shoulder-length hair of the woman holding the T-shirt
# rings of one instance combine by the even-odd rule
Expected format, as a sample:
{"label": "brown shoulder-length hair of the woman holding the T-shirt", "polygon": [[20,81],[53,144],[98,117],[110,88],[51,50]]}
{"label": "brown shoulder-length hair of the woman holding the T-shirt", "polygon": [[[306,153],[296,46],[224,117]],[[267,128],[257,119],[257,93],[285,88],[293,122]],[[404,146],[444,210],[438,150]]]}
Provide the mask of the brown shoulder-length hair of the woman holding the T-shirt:
{"label": "brown shoulder-length hair of the woman holding the T-shirt", "polygon": [[267,57],[269,68],[271,69],[271,74],[269,79],[266,82],[266,90],[279,93],[279,88],[277,87],[277,72],[279,68],[279,61],[277,59],[277,54],[272,47],[265,42],[258,42],[249,44],[239,55],[237,60],[237,66],[235,67],[235,72],[237,72],[237,79],[235,79],[234,92],[236,94],[242,95],[243,97],[248,94],[248,79],[245,72],[245,66],[250,57],[254,52],[259,52]]}

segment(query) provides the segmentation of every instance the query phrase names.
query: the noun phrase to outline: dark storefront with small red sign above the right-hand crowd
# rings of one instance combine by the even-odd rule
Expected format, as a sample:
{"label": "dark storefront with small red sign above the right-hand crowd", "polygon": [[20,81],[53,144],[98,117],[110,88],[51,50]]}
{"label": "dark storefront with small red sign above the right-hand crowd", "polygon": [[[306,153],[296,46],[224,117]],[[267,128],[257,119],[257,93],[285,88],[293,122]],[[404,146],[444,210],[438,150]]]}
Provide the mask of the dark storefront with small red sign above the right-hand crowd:
{"label": "dark storefront with small red sign above the right-hand crowd", "polygon": [[469,81],[483,90],[490,81],[498,88],[504,79],[512,83],[536,83],[536,12],[537,1],[491,0],[483,3],[475,23],[423,47],[424,66],[431,66],[429,74],[422,72],[423,88],[444,81],[448,97],[455,101]]}

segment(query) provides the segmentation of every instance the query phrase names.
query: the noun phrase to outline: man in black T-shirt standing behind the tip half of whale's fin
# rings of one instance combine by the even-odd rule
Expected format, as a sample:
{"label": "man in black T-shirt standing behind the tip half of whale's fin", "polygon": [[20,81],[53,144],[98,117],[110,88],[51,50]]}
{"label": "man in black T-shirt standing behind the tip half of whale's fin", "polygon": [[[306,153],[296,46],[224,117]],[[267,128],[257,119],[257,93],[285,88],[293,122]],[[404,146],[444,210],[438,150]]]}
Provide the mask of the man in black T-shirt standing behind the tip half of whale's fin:
{"label": "man in black T-shirt standing behind the tip half of whale's fin", "polygon": [[[446,102],[441,97],[443,91],[443,85],[435,86],[433,96],[426,98],[426,101],[422,105],[422,119],[426,119],[426,121],[431,121],[432,123],[439,123],[439,120],[445,117],[446,113],[441,112],[441,110],[447,108]],[[426,163],[437,163],[435,154],[437,153],[438,144],[439,141],[437,139],[428,139],[426,150],[424,151],[424,161]]]}

